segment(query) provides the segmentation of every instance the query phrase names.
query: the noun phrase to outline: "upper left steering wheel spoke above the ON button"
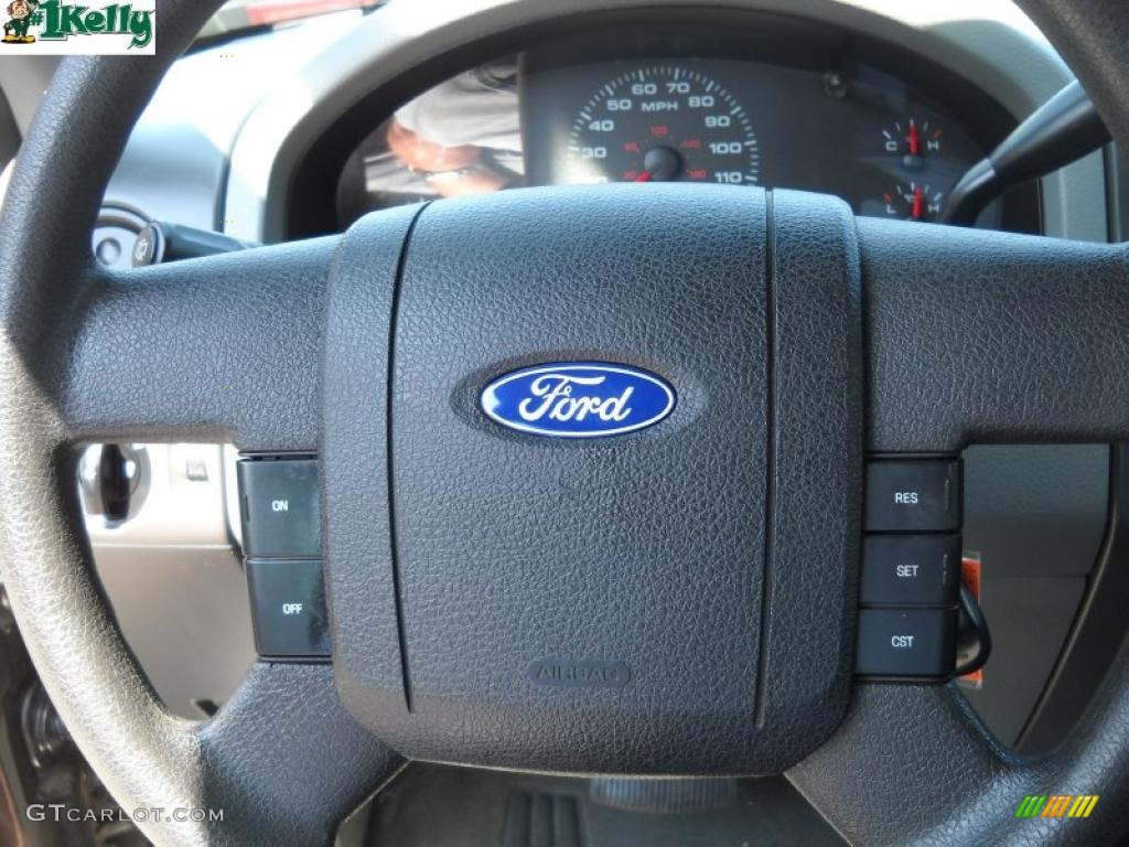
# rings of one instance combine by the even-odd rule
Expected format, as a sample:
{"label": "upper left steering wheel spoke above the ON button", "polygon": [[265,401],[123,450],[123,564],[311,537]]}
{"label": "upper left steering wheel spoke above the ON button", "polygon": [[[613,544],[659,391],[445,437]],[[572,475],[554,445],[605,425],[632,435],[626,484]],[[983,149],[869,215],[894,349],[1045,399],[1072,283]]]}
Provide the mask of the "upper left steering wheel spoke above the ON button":
{"label": "upper left steering wheel spoke above the ON button", "polygon": [[335,244],[97,273],[77,311],[61,386],[69,438],[313,448]]}

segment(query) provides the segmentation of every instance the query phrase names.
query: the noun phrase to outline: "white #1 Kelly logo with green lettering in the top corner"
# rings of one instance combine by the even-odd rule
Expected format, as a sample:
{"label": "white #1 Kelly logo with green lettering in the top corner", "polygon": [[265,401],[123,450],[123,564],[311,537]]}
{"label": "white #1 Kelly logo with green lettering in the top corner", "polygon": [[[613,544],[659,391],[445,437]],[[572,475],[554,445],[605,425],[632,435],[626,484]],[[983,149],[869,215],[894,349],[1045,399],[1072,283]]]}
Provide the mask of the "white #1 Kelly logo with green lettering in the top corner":
{"label": "white #1 Kelly logo with green lettering in the top corner", "polygon": [[[3,0],[0,0],[3,2]],[[60,0],[11,0],[5,7],[5,54],[152,55],[156,0],[79,6]]]}

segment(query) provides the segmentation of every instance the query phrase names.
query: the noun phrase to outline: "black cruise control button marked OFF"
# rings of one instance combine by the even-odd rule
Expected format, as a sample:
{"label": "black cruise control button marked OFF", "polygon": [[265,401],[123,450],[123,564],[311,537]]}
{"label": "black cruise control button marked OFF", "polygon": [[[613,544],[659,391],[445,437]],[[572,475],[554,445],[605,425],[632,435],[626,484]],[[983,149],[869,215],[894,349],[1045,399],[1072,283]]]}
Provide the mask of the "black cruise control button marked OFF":
{"label": "black cruise control button marked OFF", "polygon": [[247,585],[259,655],[271,658],[330,655],[321,561],[248,559]]}

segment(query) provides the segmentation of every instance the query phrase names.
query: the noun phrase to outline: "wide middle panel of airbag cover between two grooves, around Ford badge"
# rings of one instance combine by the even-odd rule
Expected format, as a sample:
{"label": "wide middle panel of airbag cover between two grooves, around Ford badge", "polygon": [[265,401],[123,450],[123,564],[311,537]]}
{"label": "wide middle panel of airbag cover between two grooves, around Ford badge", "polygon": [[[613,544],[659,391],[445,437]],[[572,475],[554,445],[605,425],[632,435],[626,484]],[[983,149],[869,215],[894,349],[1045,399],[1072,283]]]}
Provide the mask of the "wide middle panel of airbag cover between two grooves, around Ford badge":
{"label": "wide middle panel of airbag cover between two grooves, around Ford badge", "polygon": [[[410,754],[629,772],[794,756],[799,739],[759,737],[753,722],[764,195],[694,193],[544,190],[421,216],[392,409],[413,714],[387,734]],[[493,377],[586,360],[658,374],[674,412],[587,443],[482,418]],[[543,660],[622,662],[631,681],[536,684],[527,669]]]}

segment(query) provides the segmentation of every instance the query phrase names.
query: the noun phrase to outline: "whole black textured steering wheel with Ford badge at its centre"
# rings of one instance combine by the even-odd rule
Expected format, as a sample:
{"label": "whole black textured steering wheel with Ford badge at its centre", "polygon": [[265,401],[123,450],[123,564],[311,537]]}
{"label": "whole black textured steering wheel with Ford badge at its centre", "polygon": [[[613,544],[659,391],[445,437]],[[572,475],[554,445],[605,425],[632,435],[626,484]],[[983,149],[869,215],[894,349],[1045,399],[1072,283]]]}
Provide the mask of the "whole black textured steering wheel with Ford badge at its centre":
{"label": "whole black textured steering wheel with Ford badge at its centre", "polygon": [[[1129,149],[1129,7],[1022,5]],[[88,234],[130,128],[217,6],[164,0],[155,59],[64,62],[0,226],[3,582],[122,806],[224,810],[146,814],[151,839],[327,844],[411,758],[785,771],[861,844],[1129,831],[1127,648],[1039,760],[1004,750],[952,686],[851,683],[865,452],[1129,436],[1123,246],[628,185],[98,268]],[[421,35],[418,55],[464,37]],[[580,444],[478,408],[497,374],[580,358],[662,374],[675,411]],[[224,719],[194,724],[161,707],[91,578],[75,447],[227,438],[320,452],[334,660],[260,662]],[[533,684],[554,649],[631,680]],[[1101,794],[1099,813],[1015,820],[1025,794],[1054,792]]]}

